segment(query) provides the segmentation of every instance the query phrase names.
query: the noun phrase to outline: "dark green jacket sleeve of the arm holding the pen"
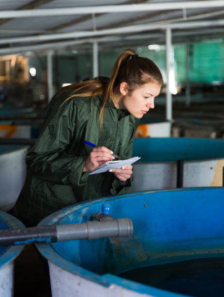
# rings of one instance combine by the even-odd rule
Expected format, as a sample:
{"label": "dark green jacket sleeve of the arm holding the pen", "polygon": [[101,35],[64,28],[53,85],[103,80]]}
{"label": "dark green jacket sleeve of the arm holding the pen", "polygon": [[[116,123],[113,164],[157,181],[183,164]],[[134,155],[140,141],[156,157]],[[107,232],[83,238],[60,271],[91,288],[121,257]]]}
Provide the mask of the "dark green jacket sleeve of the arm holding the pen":
{"label": "dark green jacket sleeve of the arm holding the pen", "polygon": [[44,128],[26,156],[28,169],[38,178],[52,183],[86,185],[89,173],[82,172],[86,157],[66,152],[75,132],[77,106],[74,100],[52,107],[47,113]]}

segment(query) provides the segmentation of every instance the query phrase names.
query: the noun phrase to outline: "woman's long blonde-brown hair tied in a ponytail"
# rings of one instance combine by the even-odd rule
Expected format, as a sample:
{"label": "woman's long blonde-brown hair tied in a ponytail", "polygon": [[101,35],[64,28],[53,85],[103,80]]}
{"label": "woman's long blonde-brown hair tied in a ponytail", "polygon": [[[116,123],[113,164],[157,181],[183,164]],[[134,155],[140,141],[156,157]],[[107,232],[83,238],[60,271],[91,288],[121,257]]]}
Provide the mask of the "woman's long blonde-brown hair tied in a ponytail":
{"label": "woman's long blonde-brown hair tied in a ponytail", "polygon": [[120,96],[119,86],[121,82],[127,83],[130,93],[145,83],[158,82],[162,85],[163,77],[154,62],[148,58],[139,57],[134,49],[126,49],[115,61],[111,77],[107,82],[100,80],[100,78],[78,82],[62,88],[58,94],[66,91],[76,93],[69,96],[64,102],[73,97],[93,98],[95,95],[104,94],[99,119],[102,129],[105,104],[108,99],[111,100]]}

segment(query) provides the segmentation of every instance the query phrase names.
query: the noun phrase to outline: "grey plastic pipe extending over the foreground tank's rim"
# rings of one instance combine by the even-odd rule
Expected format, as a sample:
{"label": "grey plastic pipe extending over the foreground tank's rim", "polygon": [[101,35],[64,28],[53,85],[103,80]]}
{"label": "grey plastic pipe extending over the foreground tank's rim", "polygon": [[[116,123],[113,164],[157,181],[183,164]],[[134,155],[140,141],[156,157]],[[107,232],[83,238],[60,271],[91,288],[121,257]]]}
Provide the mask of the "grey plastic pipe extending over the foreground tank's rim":
{"label": "grey plastic pipe extending over the foreground tank's rim", "polygon": [[50,243],[63,240],[97,239],[112,236],[131,236],[132,220],[88,221],[80,224],[47,225],[32,228],[0,230],[0,246]]}

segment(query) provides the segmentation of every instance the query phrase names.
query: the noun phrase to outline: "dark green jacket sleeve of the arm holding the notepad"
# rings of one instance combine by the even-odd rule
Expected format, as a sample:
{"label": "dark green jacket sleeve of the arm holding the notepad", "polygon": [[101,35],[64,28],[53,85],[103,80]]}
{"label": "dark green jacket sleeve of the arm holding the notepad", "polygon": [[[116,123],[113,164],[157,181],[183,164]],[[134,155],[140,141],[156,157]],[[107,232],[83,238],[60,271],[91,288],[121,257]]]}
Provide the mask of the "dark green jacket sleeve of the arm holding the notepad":
{"label": "dark green jacket sleeve of the arm holding the notepad", "polygon": [[[135,123],[134,123],[133,133],[132,133],[131,138],[130,138],[130,140],[125,148],[125,151],[124,151],[125,159],[129,159],[132,157],[134,134],[135,134],[138,124],[139,124],[139,120],[136,119]],[[133,181],[133,174],[132,174],[131,178],[129,180],[127,180],[127,183],[124,185],[122,185],[119,182],[119,179],[117,177],[114,177],[114,181],[112,182],[112,189],[113,189],[114,195],[125,194],[131,187],[132,181]]]}

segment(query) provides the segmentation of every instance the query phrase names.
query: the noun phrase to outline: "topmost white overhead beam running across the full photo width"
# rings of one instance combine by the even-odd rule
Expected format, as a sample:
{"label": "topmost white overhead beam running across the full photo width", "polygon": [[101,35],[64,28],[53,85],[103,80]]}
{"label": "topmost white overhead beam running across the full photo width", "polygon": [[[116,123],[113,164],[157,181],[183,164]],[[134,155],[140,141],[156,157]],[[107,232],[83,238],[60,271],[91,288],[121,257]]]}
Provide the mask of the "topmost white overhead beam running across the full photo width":
{"label": "topmost white overhead beam running across the full photo width", "polygon": [[190,8],[210,8],[224,7],[224,0],[208,1],[179,1],[179,2],[161,2],[144,4],[126,4],[126,5],[105,5],[88,7],[69,7],[69,8],[51,8],[51,9],[27,9],[27,10],[7,10],[0,12],[0,18],[18,18],[33,16],[72,16],[86,14],[102,13],[121,13],[121,12],[141,12],[156,10],[177,10]]}

